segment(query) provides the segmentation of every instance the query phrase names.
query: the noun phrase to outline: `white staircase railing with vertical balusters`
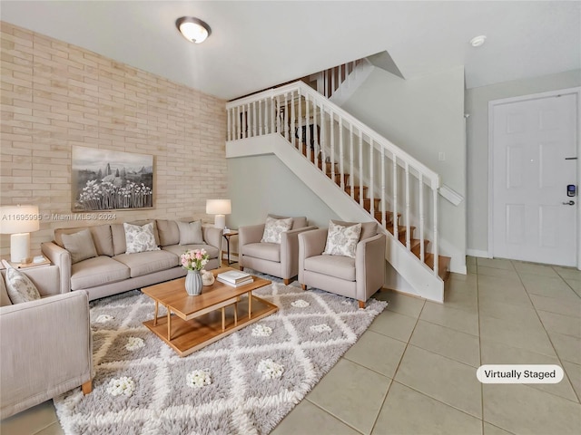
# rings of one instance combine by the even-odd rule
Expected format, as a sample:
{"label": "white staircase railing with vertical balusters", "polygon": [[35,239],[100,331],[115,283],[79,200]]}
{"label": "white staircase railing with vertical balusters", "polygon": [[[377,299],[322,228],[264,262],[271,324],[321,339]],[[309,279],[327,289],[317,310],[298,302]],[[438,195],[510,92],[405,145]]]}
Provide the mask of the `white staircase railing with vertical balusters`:
{"label": "white staircase railing with vertical balusters", "polygon": [[[419,261],[425,263],[431,250],[438,275],[437,173],[303,82],[229,102],[226,109],[229,141],[280,133],[386,233],[400,239],[405,232],[401,241]],[[414,228],[419,243],[412,245]]]}

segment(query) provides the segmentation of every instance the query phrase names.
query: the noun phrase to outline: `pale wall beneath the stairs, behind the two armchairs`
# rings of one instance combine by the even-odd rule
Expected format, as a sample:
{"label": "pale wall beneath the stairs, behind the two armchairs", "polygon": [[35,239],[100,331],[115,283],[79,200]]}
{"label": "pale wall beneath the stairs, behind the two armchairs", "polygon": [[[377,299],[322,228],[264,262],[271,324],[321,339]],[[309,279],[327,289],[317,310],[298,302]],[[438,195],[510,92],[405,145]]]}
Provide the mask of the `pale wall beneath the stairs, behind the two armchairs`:
{"label": "pale wall beneath the stairs, behind the two armchairs", "polygon": [[306,216],[318,227],[339,218],[274,155],[228,159],[228,194],[231,228],[263,223],[269,213]]}

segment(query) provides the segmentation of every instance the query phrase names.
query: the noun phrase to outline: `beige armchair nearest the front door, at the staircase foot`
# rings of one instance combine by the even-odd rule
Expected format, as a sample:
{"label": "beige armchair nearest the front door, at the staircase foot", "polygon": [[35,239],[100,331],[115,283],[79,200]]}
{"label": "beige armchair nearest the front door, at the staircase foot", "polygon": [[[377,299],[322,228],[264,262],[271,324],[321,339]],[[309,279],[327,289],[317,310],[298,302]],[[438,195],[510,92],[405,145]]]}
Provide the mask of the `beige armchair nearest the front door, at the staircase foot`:
{"label": "beige armchair nearest the front door, at the staircase foot", "polygon": [[[352,222],[335,223],[342,226]],[[361,224],[355,258],[323,255],[327,242],[327,229],[317,229],[299,235],[299,283],[303,290],[308,286],[330,293],[352,297],[365,308],[365,302],[384,283],[386,237],[378,233],[374,222]]]}

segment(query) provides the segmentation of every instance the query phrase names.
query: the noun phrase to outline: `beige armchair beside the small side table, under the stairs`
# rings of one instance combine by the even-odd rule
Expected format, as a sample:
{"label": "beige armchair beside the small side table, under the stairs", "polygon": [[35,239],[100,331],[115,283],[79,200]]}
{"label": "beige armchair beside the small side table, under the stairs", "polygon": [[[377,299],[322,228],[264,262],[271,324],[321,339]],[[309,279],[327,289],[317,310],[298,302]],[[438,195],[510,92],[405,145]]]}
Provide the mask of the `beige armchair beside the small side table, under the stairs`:
{"label": "beige armchair beside the small side table, under the stairs", "polygon": [[[271,218],[283,217],[269,215]],[[308,227],[307,218],[292,218],[290,230],[281,233],[281,243],[261,242],[265,224],[240,227],[238,233],[240,270],[250,267],[264,274],[278,276],[284,284],[299,273],[299,240],[304,231],[317,229]]]}

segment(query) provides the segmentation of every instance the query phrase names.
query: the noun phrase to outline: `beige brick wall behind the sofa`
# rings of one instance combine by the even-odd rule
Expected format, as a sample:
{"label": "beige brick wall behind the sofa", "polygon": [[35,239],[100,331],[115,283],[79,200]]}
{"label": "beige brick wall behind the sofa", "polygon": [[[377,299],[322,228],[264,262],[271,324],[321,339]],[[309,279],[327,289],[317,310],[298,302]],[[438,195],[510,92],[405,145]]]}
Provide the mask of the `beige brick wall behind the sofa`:
{"label": "beige brick wall behind the sofa", "polygon": [[[33,254],[72,216],[74,145],[153,155],[154,208],[112,211],[115,221],[202,218],[226,198],[225,102],[74,45],[0,22],[0,205],[43,216]],[[99,222],[96,222],[99,223]],[[0,239],[9,256],[9,236]]]}

